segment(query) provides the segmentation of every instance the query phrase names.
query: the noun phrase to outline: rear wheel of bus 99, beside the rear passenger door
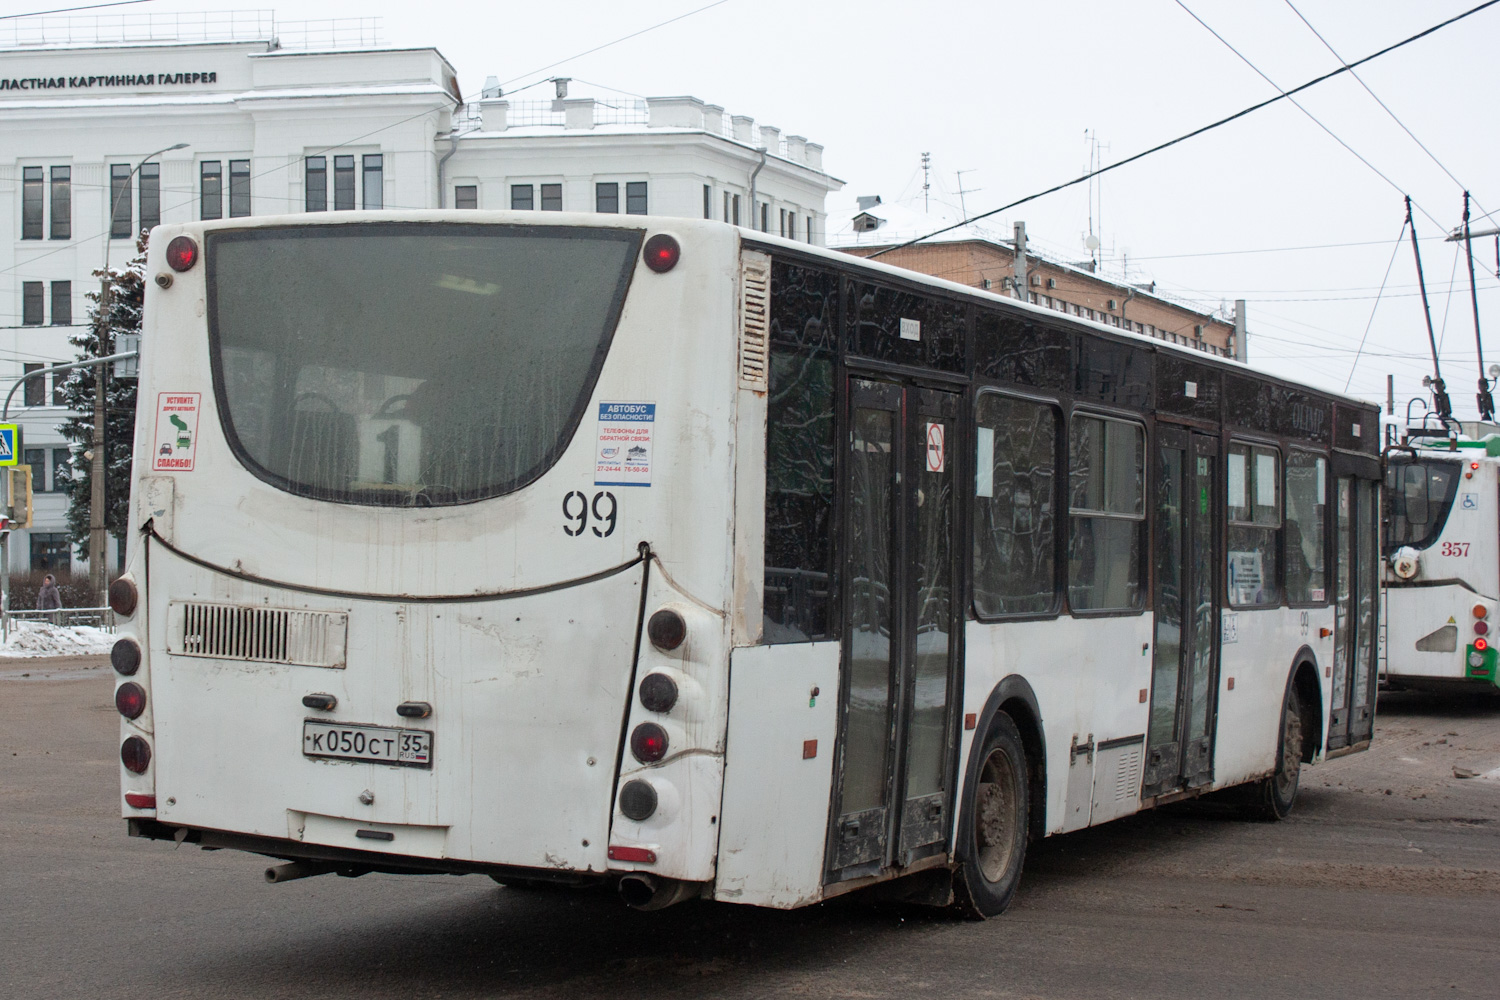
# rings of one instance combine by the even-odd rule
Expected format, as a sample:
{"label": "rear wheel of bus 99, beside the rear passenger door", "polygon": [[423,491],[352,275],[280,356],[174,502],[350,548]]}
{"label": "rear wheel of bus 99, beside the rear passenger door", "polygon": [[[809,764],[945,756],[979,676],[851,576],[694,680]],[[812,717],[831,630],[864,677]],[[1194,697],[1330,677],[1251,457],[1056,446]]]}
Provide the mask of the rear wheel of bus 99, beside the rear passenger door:
{"label": "rear wheel of bus 99, beside the rear passenger door", "polygon": [[958,832],[954,900],[969,919],[999,916],[1016,897],[1030,826],[1028,774],[1020,730],[1010,715],[996,712]]}

